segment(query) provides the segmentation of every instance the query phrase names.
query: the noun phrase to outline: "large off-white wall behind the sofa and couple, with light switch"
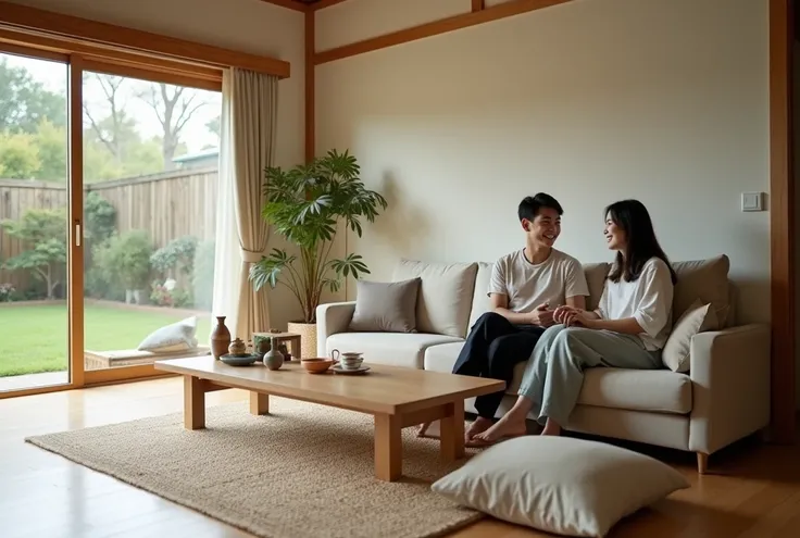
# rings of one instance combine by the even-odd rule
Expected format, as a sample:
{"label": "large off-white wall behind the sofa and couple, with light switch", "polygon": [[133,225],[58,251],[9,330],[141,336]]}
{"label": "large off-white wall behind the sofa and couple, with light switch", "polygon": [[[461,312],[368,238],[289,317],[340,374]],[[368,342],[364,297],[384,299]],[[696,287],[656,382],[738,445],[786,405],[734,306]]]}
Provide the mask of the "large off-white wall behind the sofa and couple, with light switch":
{"label": "large off-white wall behind the sofa and couple, with light switch", "polygon": [[[390,2],[322,11],[332,41],[371,33],[359,3]],[[538,190],[565,208],[559,248],[609,260],[602,208],[636,197],[673,260],[727,253],[740,318],[768,321],[768,214],[739,211],[768,189],[766,0],[575,0],[323,64],[316,84],[317,151],[349,148],[390,202],[349,238],[373,278],[520,248]]]}

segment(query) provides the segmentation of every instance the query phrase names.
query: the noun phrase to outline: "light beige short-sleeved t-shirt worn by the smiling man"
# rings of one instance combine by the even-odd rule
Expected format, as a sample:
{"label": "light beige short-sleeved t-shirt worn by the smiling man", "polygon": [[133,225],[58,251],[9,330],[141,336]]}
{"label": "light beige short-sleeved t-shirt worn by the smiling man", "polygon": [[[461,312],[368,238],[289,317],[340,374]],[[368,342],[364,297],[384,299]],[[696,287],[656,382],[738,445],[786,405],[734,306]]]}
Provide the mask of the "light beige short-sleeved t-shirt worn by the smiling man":
{"label": "light beige short-sleeved t-shirt worn by the smiling man", "polygon": [[588,296],[584,267],[575,258],[552,249],[547,260],[530,263],[521,249],[495,262],[489,281],[489,295],[509,298],[512,312],[533,312],[542,303],[550,309],[566,304],[567,297]]}

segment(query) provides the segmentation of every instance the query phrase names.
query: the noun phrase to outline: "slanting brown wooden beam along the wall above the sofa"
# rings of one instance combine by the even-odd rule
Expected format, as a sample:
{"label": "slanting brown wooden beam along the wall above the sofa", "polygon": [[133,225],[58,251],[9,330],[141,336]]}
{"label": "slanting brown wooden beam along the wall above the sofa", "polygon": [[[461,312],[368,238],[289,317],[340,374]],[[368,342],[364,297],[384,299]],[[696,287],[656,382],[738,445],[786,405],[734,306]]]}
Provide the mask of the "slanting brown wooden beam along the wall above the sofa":
{"label": "slanting brown wooden beam along the wall above the sofa", "polygon": [[[326,0],[322,0],[320,3],[323,3]],[[324,50],[314,54],[314,64],[320,65],[323,63],[333,62],[335,60],[341,60],[342,58],[364,54],[374,50],[385,49],[387,47],[395,47],[396,45],[416,41],[417,39],[425,39],[426,37],[438,36],[439,34],[447,34],[448,32],[454,32],[478,24],[499,21],[501,18],[520,15],[522,13],[540,10],[543,8],[550,8],[551,5],[558,5],[560,3],[566,3],[572,0],[512,0],[509,2],[492,5],[490,8],[485,8],[479,11],[463,13],[461,15],[453,15],[447,18],[441,18],[439,21],[421,24],[420,26],[414,26],[411,28],[392,32],[383,36],[364,39],[363,41],[357,41],[354,43],[345,45],[342,47]]]}

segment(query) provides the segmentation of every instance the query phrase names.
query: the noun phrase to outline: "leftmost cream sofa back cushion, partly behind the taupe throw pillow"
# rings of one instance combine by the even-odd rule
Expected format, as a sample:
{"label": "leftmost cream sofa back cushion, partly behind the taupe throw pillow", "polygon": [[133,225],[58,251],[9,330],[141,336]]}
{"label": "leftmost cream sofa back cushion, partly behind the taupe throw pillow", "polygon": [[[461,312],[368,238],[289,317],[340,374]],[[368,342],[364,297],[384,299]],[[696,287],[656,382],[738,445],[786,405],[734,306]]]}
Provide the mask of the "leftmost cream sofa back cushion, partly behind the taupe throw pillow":
{"label": "leftmost cream sofa back cushion, partly behind the taupe throw pillow", "polygon": [[400,260],[392,280],[422,278],[416,301],[420,333],[465,338],[476,272],[476,263]]}

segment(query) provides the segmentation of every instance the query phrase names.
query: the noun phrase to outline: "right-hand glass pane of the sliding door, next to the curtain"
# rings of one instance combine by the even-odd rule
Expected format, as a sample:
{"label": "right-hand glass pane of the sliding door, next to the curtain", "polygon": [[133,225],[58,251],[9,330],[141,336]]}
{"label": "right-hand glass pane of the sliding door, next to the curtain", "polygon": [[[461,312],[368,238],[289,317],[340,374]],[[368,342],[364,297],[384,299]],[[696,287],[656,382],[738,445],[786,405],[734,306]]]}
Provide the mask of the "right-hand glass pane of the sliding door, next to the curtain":
{"label": "right-hand glass pane of the sliding door, next to the curtain", "polygon": [[[218,92],[85,73],[87,371],[205,346],[221,111]],[[195,339],[177,351],[165,340],[154,353],[138,350],[157,329],[189,318]]]}

